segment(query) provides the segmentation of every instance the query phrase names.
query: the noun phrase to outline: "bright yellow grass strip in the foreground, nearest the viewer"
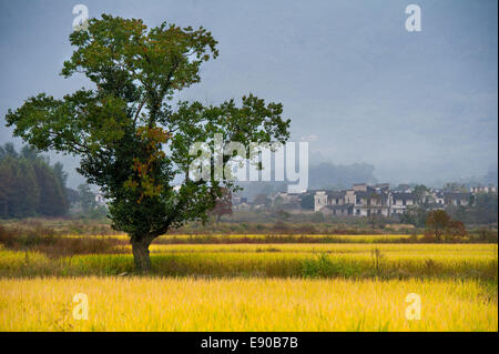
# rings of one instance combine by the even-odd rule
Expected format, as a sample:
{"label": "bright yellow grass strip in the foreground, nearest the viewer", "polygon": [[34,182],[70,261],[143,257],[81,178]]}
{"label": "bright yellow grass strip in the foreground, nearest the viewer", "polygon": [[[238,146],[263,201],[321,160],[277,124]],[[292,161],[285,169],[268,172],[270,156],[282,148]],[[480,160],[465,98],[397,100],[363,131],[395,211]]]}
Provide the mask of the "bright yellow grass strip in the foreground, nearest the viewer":
{"label": "bright yellow grass strip in the foreground, nearest the viewer", "polygon": [[498,331],[498,305],[476,281],[0,279],[0,331]]}

